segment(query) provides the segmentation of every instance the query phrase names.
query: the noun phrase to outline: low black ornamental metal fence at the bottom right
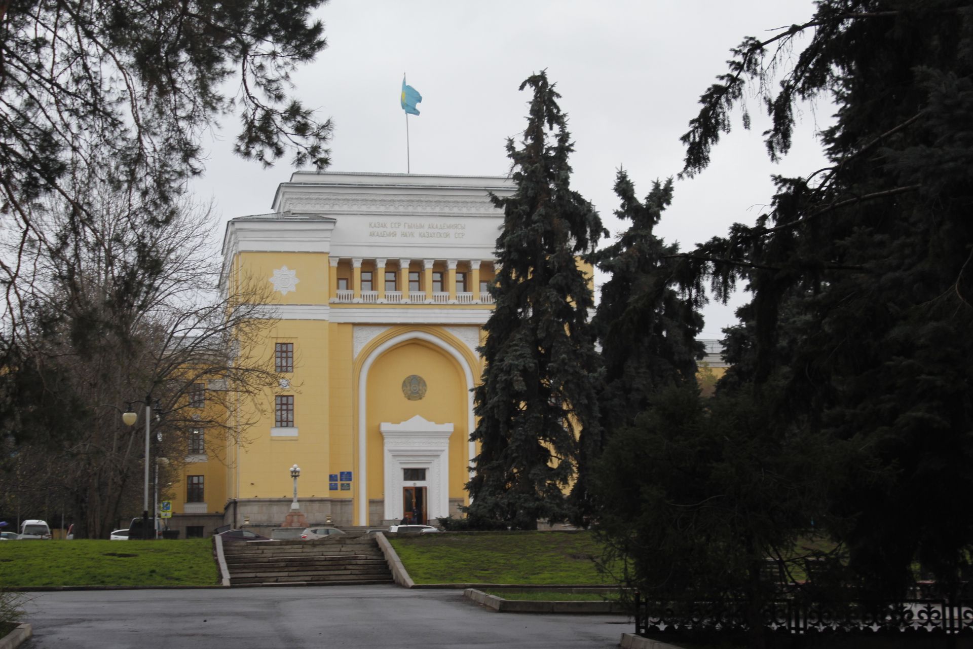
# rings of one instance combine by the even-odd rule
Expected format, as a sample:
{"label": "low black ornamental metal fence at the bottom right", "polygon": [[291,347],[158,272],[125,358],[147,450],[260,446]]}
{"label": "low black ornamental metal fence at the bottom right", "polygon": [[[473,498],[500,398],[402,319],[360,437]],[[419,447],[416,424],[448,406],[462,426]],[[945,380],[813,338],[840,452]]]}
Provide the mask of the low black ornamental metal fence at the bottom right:
{"label": "low black ornamental metal fence at the bottom right", "polygon": [[[742,601],[646,600],[636,594],[635,610],[635,632],[639,635],[742,632],[749,626]],[[973,599],[833,604],[777,599],[766,604],[760,616],[766,629],[785,634],[973,634]]]}

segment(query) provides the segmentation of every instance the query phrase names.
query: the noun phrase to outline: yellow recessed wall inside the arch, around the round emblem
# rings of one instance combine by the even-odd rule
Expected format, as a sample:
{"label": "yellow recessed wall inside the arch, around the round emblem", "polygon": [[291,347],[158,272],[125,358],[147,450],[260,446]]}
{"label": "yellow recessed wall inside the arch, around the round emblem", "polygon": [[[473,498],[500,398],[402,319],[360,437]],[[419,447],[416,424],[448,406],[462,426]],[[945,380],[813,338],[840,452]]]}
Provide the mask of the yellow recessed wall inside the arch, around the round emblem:
{"label": "yellow recessed wall inside the arch, around the round emblem", "polygon": [[[411,375],[425,380],[427,391],[418,401],[406,399],[402,381]],[[446,351],[424,341],[411,340],[389,349],[376,359],[368,375],[366,444],[368,445],[368,493],[370,498],[385,498],[383,493],[381,422],[400,423],[419,415],[435,423],[451,423],[450,498],[465,497],[468,440],[466,379]],[[391,494],[401,497],[401,494]]]}

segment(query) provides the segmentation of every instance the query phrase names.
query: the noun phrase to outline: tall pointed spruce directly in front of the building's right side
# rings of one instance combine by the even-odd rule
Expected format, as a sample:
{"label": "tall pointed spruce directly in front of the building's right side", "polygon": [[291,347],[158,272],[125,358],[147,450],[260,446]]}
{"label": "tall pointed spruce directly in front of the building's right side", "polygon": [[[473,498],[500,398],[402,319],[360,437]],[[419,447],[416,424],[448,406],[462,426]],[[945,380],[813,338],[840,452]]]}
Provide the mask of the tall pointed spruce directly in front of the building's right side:
{"label": "tall pointed spruce directly in front of the building's right side", "polygon": [[533,90],[518,148],[507,142],[517,192],[493,197],[504,210],[496,241],[500,268],[490,293],[483,382],[475,390],[481,444],[467,487],[472,517],[535,529],[569,515],[564,489],[576,475],[577,446],[597,435],[599,363],[588,311],[591,276],[578,258],[603,233],[592,204],[570,188],[573,151],[559,93],[544,72]]}

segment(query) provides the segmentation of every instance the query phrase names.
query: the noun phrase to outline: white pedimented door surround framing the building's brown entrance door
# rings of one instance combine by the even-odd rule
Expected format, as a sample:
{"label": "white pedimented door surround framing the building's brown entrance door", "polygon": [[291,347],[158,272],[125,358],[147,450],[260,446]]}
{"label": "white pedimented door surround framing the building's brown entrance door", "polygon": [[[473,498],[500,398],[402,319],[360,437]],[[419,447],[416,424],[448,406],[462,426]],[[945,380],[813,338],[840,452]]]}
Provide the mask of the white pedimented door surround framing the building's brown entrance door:
{"label": "white pedimented door surround framing the building's brown entrance door", "polygon": [[416,487],[426,487],[426,512],[429,519],[450,515],[450,435],[451,423],[435,423],[415,415],[402,423],[382,422],[382,459],[385,471],[385,519],[403,518],[403,469],[425,469],[426,479]]}

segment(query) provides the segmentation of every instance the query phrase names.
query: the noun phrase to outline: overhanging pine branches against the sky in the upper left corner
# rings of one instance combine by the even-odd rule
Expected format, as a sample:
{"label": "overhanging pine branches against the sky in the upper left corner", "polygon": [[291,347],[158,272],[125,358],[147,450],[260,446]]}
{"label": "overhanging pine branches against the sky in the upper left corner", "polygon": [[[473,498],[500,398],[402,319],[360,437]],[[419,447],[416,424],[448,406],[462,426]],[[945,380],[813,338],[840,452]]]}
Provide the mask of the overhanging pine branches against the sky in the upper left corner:
{"label": "overhanging pine branches against the sky in the upper left corner", "polygon": [[0,2],[0,223],[18,244],[0,262],[8,317],[27,246],[62,243],[32,222],[40,198],[65,199],[72,228],[88,229],[96,215],[78,189],[97,179],[153,209],[156,227],[202,170],[202,132],[234,113],[243,158],[328,163],[330,122],[289,94],[290,73],[325,47],[310,19],[323,1]]}

